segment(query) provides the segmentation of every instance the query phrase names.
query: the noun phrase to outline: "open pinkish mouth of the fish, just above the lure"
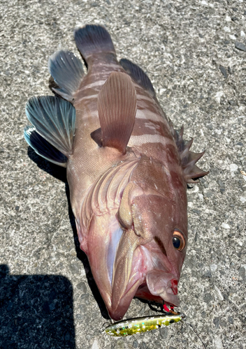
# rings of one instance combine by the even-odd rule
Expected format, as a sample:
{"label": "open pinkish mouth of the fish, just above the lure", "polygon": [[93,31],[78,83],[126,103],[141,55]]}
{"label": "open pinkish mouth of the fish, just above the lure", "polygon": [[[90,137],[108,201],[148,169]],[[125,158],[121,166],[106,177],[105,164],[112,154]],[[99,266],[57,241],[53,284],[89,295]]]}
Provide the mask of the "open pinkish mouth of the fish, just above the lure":
{"label": "open pinkish mouth of the fish, just above the lure", "polygon": [[115,283],[122,277],[114,277],[112,303],[108,313],[113,320],[124,317],[133,297],[179,306],[178,278],[171,272],[171,265],[163,253],[153,253],[147,246],[138,246],[131,260],[131,273],[123,295],[114,293]]}

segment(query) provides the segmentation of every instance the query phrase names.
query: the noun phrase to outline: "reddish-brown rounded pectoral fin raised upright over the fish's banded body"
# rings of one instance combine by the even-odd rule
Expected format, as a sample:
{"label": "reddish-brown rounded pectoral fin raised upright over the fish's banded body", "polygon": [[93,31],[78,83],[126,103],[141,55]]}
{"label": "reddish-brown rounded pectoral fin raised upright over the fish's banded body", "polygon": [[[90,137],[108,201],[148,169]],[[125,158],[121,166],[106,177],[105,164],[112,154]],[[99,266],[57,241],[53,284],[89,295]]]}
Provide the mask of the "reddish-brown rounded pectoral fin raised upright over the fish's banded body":
{"label": "reddish-brown rounded pectoral fin raised upright over the fish's banded body", "polygon": [[97,102],[103,147],[125,154],[136,116],[136,90],[131,77],[113,72],[99,92]]}

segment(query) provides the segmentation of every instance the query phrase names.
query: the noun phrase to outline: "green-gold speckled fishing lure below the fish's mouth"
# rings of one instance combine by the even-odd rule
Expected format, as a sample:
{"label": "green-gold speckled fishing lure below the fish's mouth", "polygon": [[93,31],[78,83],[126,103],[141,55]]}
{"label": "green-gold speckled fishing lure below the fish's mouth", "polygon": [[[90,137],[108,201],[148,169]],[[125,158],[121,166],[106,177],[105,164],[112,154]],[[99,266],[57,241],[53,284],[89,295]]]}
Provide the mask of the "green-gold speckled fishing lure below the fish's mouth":
{"label": "green-gold speckled fishing lure below the fish's mouth", "polygon": [[159,327],[171,325],[183,320],[185,315],[182,313],[168,313],[163,315],[146,316],[144,318],[134,318],[115,322],[106,327],[105,332],[110,336],[131,336],[142,332],[151,331]]}

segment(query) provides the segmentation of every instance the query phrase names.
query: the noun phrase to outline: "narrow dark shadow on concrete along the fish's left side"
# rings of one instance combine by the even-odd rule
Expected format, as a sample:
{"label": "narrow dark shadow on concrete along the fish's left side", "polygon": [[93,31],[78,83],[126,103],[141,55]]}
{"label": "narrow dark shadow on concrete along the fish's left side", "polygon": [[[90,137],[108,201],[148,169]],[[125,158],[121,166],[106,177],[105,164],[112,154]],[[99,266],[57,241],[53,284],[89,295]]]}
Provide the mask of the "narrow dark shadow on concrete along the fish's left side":
{"label": "narrow dark shadow on concrete along the fish's left side", "polygon": [[55,165],[54,163],[50,163],[50,161],[47,161],[45,160],[45,158],[42,158],[41,156],[36,154],[36,152],[31,147],[28,147],[27,154],[29,158],[31,158],[31,160],[38,165],[38,168],[41,168],[41,170],[44,170],[48,174],[51,174],[53,177],[59,179],[60,181],[63,181],[65,184],[66,198],[68,200],[68,216],[70,219],[71,228],[73,229],[73,239],[75,244],[75,251],[77,253],[77,258],[81,260],[81,262],[84,265],[89,288],[92,290],[92,294],[96,299],[96,302],[101,311],[101,315],[103,316],[103,318],[108,320],[110,319],[108,316],[108,311],[106,309],[106,306],[103,302],[99,289],[97,288],[94,278],[92,276],[87,255],[80,249],[80,243],[78,241],[78,235],[77,235],[77,230],[75,225],[75,218],[73,216],[73,211],[71,208],[69,186],[66,180],[66,168],[62,168],[61,166]]}

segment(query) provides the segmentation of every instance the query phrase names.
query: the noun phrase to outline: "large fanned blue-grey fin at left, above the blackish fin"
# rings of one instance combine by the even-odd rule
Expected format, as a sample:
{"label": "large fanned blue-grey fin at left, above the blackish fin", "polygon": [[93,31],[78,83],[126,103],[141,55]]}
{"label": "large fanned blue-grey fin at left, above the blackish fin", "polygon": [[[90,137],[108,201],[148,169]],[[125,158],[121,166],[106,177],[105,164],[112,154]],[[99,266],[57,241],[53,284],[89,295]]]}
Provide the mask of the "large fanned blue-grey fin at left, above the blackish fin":
{"label": "large fanned blue-grey fin at left, above the blackish fin", "polygon": [[27,119],[45,140],[65,156],[73,153],[75,107],[54,96],[32,97],[26,106]]}

